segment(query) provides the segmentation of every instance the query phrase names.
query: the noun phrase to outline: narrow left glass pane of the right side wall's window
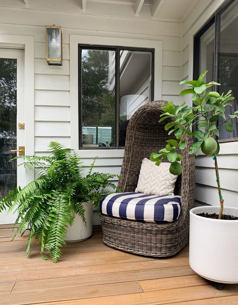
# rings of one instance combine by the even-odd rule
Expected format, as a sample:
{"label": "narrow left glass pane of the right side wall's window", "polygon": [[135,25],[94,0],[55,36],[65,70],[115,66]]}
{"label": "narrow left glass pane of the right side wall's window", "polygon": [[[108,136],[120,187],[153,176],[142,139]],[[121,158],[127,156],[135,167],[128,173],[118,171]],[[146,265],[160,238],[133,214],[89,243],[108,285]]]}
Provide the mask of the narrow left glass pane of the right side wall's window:
{"label": "narrow left glass pane of the right side wall's window", "polygon": [[199,75],[208,70],[208,73],[203,78],[206,83],[214,81],[214,44],[215,24],[213,23],[200,37]]}

